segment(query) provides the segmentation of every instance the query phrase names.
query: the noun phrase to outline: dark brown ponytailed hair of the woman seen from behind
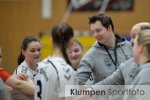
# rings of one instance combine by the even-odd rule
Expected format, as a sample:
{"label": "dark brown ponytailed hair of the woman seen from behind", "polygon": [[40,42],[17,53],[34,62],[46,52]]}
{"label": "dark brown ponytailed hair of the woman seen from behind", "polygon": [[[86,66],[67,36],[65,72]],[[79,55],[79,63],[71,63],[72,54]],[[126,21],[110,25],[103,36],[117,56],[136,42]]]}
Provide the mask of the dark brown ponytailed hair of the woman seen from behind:
{"label": "dark brown ponytailed hair of the woman seen from behind", "polygon": [[74,33],[72,27],[66,23],[60,23],[54,26],[52,29],[53,42],[60,47],[63,57],[65,58],[66,62],[70,65],[71,63],[68,58],[66,48],[69,40],[73,38],[73,36]]}

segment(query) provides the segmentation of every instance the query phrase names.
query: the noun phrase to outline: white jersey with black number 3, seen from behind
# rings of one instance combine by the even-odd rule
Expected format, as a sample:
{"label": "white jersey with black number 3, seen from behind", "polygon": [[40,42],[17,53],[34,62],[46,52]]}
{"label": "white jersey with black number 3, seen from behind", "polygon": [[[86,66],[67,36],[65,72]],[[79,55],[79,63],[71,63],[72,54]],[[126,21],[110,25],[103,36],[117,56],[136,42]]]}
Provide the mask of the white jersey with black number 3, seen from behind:
{"label": "white jersey with black number 3, seen from behind", "polygon": [[35,100],[58,100],[70,96],[65,92],[65,85],[77,85],[77,79],[64,59],[48,57],[39,63],[35,84]]}

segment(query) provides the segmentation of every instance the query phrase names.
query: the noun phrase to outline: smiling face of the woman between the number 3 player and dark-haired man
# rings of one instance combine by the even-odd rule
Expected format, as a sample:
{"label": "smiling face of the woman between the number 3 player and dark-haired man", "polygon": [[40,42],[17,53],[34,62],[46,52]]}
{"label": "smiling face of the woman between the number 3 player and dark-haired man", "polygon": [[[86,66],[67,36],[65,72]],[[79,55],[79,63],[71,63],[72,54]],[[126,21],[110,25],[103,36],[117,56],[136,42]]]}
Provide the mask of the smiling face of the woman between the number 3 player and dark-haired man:
{"label": "smiling face of the woman between the number 3 player and dark-haired man", "polygon": [[82,47],[74,41],[73,45],[68,48],[67,53],[72,67],[77,69],[83,54]]}

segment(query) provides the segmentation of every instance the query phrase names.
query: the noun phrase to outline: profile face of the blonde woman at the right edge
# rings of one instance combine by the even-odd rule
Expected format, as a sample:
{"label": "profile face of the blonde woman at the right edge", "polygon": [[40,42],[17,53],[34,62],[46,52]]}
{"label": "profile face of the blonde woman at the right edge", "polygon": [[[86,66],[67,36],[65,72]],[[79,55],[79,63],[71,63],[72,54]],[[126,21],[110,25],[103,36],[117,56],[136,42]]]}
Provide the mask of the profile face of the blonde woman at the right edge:
{"label": "profile face of the blonde woman at the right edge", "polygon": [[133,45],[133,48],[132,48],[132,52],[133,52],[133,58],[135,59],[135,61],[137,63],[139,63],[140,46],[137,43],[137,38],[138,38],[138,36],[136,36],[135,39],[134,39],[134,45]]}

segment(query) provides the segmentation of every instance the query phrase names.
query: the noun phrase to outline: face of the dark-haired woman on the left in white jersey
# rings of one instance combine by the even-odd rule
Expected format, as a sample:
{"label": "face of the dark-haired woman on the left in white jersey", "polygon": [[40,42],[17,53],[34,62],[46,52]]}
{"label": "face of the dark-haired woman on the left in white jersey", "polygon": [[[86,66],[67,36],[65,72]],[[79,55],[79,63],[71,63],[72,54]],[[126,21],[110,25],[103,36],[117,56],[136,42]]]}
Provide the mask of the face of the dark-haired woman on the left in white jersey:
{"label": "face of the dark-haired woman on the left in white jersey", "polygon": [[37,64],[41,56],[41,43],[38,41],[29,43],[26,50],[22,50],[22,54],[25,56],[26,62]]}

